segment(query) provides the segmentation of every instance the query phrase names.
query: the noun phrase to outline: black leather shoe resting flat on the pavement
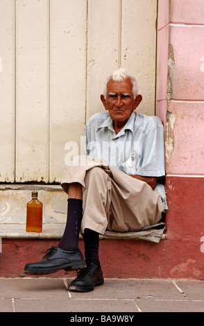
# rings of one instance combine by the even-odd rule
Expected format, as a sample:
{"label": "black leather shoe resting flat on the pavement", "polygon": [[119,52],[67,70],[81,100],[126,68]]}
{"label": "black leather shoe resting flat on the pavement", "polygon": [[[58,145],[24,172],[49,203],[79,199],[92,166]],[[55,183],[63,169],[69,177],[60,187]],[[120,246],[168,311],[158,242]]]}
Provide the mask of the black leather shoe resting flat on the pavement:
{"label": "black leather shoe resting flat on the pavement", "polygon": [[104,279],[101,267],[96,266],[94,263],[90,263],[87,268],[77,272],[77,277],[71,281],[69,290],[89,292],[94,290],[94,286],[102,285],[103,283]]}

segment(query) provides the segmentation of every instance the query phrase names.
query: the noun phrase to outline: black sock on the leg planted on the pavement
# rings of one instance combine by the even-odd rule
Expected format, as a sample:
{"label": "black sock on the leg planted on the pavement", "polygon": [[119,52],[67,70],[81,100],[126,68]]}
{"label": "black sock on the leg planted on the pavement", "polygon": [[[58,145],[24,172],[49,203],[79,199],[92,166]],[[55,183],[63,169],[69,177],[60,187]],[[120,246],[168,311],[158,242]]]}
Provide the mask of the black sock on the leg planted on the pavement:
{"label": "black sock on the leg planted on the pavement", "polygon": [[101,267],[99,261],[99,233],[90,229],[85,229],[83,234],[85,245],[85,261],[88,265],[90,262]]}

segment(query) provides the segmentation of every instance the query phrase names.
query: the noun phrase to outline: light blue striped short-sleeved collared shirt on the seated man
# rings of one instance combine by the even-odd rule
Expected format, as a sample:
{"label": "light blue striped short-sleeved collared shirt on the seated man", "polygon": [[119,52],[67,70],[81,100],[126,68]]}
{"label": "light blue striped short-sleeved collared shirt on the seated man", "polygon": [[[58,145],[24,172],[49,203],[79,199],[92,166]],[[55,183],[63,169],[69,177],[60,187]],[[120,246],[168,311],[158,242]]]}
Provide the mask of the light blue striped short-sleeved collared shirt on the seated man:
{"label": "light blue striped short-sleeved collared shirt on the seated man", "polygon": [[165,175],[164,126],[160,118],[133,111],[116,134],[109,112],[96,113],[85,128],[85,154],[102,157],[128,175],[158,177],[155,190],[167,210],[165,189],[160,181]]}

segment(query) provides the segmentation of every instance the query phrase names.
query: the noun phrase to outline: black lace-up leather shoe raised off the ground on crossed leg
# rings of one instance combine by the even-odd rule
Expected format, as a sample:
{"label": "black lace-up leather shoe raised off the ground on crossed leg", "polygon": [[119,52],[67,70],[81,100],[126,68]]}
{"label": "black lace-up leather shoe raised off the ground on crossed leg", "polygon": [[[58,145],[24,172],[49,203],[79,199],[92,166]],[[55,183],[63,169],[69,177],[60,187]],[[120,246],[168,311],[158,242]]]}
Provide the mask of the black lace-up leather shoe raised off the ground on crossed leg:
{"label": "black lace-up leather shoe raised off the ground on crossed leg", "polygon": [[60,271],[60,269],[76,271],[79,268],[85,268],[85,266],[83,254],[79,249],[76,251],[65,251],[59,247],[52,246],[46,250],[46,255],[44,255],[42,260],[26,264],[24,273],[44,275]]}

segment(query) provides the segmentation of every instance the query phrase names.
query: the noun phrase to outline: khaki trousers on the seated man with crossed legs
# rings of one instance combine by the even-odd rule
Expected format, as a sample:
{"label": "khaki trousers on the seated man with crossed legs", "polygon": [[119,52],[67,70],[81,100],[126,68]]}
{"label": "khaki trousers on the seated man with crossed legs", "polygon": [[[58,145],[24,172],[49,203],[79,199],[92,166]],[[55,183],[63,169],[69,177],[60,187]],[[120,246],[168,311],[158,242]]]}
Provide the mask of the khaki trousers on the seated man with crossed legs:
{"label": "khaki trousers on the seated man with crossed legs", "polygon": [[83,186],[81,232],[89,228],[100,234],[139,231],[160,221],[164,208],[157,191],[132,178],[103,159],[75,157],[61,186],[69,194],[69,183]]}

